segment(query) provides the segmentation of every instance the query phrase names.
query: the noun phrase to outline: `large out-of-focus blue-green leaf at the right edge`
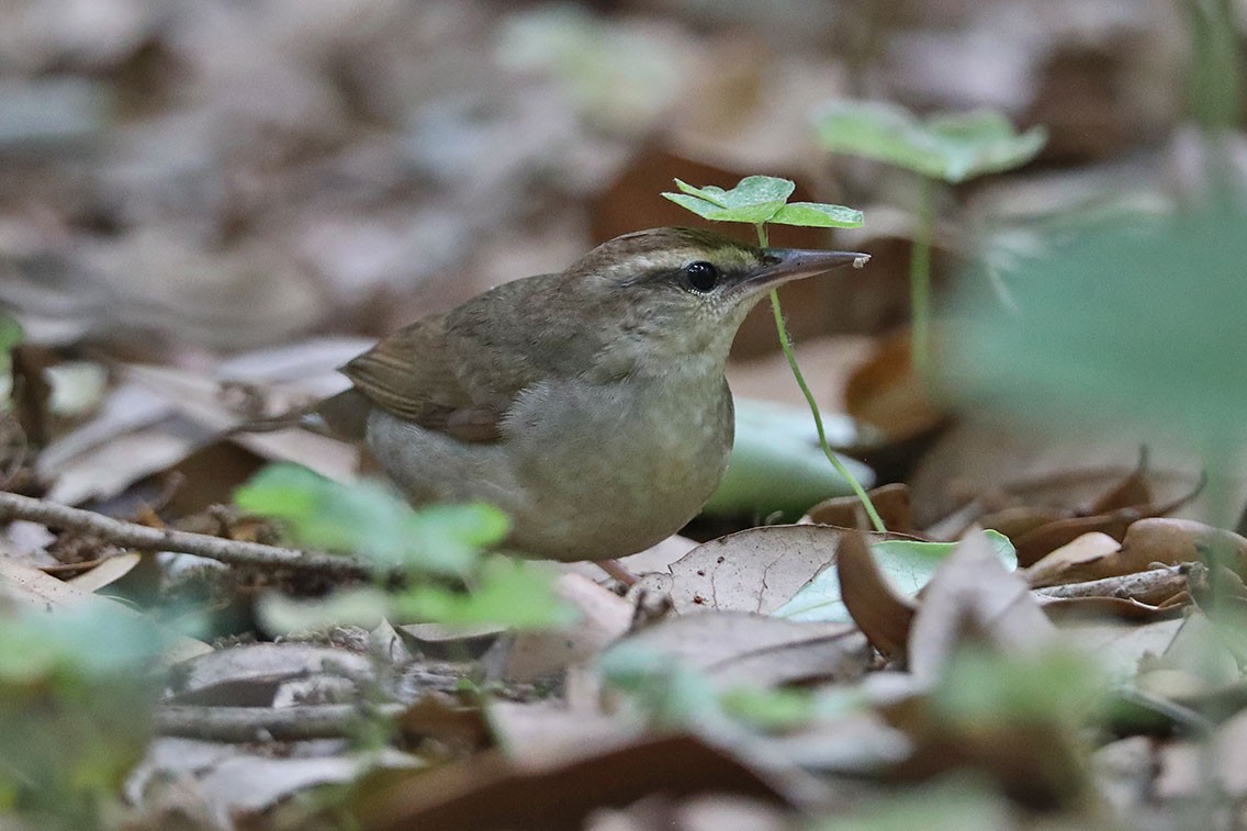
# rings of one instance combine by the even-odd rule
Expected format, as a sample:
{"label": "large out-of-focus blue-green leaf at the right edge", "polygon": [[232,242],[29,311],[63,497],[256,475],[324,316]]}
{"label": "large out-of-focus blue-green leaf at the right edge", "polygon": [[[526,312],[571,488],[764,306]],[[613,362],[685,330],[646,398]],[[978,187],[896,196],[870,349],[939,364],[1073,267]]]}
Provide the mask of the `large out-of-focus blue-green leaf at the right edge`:
{"label": "large out-of-focus blue-green leaf at the right edge", "polygon": [[1049,425],[1126,419],[1226,454],[1247,424],[1245,228],[1228,205],[1084,228],[1019,263],[1021,316],[961,281],[946,392]]}

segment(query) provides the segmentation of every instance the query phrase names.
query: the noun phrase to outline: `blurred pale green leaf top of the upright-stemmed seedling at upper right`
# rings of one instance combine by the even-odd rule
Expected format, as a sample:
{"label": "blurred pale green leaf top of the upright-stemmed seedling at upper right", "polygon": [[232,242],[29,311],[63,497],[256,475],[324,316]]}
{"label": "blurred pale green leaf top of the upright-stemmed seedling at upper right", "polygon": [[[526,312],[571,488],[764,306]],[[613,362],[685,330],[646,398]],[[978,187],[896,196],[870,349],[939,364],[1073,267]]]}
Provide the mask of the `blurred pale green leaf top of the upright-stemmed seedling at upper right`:
{"label": "blurred pale green leaf top of the upright-stemmed seedling at upper right", "polygon": [[823,146],[912,170],[945,182],[1011,170],[1047,141],[1042,127],[1024,134],[991,110],[918,119],[883,101],[832,101],[814,114]]}

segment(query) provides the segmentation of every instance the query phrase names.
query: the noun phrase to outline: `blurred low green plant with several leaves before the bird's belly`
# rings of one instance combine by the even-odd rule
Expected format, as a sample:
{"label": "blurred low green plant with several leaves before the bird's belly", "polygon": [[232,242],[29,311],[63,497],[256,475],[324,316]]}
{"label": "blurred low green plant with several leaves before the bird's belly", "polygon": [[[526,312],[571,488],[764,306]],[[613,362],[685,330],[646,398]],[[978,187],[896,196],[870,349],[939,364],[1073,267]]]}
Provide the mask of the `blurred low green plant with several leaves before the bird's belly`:
{"label": "blurred low green plant with several leaves before the bird's belly", "polygon": [[[276,631],[329,623],[375,624],[383,616],[445,624],[493,623],[516,629],[566,624],[571,610],[540,564],[486,555],[509,530],[506,515],[484,503],[414,510],[374,482],[342,484],[297,464],[261,470],[234,494],[243,510],[277,519],[299,544],[362,554],[407,576],[338,591],[325,600],[271,595],[261,604]],[[451,581],[466,586],[459,590]]]}

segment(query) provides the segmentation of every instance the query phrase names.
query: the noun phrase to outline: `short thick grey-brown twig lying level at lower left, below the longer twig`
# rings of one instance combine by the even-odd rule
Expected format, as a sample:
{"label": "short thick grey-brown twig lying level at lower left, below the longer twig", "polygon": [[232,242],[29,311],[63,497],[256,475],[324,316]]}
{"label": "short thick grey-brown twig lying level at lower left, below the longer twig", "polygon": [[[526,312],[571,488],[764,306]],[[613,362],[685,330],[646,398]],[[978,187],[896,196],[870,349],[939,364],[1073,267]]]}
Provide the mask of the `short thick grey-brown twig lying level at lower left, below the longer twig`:
{"label": "short thick grey-brown twig lying level at lower left, below the longer twig", "polygon": [[205,741],[303,741],[349,736],[369,716],[393,719],[402,704],[317,704],[296,707],[208,707],[166,705],[156,710],[156,731]]}

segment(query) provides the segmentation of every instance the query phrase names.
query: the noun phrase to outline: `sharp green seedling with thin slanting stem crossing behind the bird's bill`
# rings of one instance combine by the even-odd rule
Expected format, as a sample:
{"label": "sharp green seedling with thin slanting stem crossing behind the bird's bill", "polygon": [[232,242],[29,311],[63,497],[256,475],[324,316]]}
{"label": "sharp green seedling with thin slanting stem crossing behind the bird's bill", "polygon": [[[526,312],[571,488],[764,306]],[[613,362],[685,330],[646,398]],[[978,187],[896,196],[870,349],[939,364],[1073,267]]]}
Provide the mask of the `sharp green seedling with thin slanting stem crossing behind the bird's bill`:
{"label": "sharp green seedling with thin slanting stem crossing behind the bird's bill", "polygon": [[[736,187],[725,191],[721,187],[693,187],[687,182],[676,180],[680,193],[663,193],[665,197],[712,222],[746,222],[752,225],[758,235],[758,245],[763,248],[769,245],[767,225],[796,225],[807,228],[855,228],[862,225],[862,212],[839,205],[824,205],[822,202],[788,202],[797,186],[787,178],[773,176],[747,176]],[[809,412],[814,417],[814,425],[818,429],[818,444],[839,473],[853,488],[853,493],[862,500],[870,523],[877,532],[885,533],[887,528],[879,512],[875,510],[865,488],[854,478],[853,473],[840,462],[827,443],[827,429],[823,425],[822,413],[814,394],[806,383],[806,377],[797,366],[797,356],[792,351],[792,338],[783,321],[783,309],[779,307],[779,293],[771,289],[771,311],[774,314],[776,329],[779,333],[779,347],[784,358],[792,368],[792,374],[801,387]]]}

